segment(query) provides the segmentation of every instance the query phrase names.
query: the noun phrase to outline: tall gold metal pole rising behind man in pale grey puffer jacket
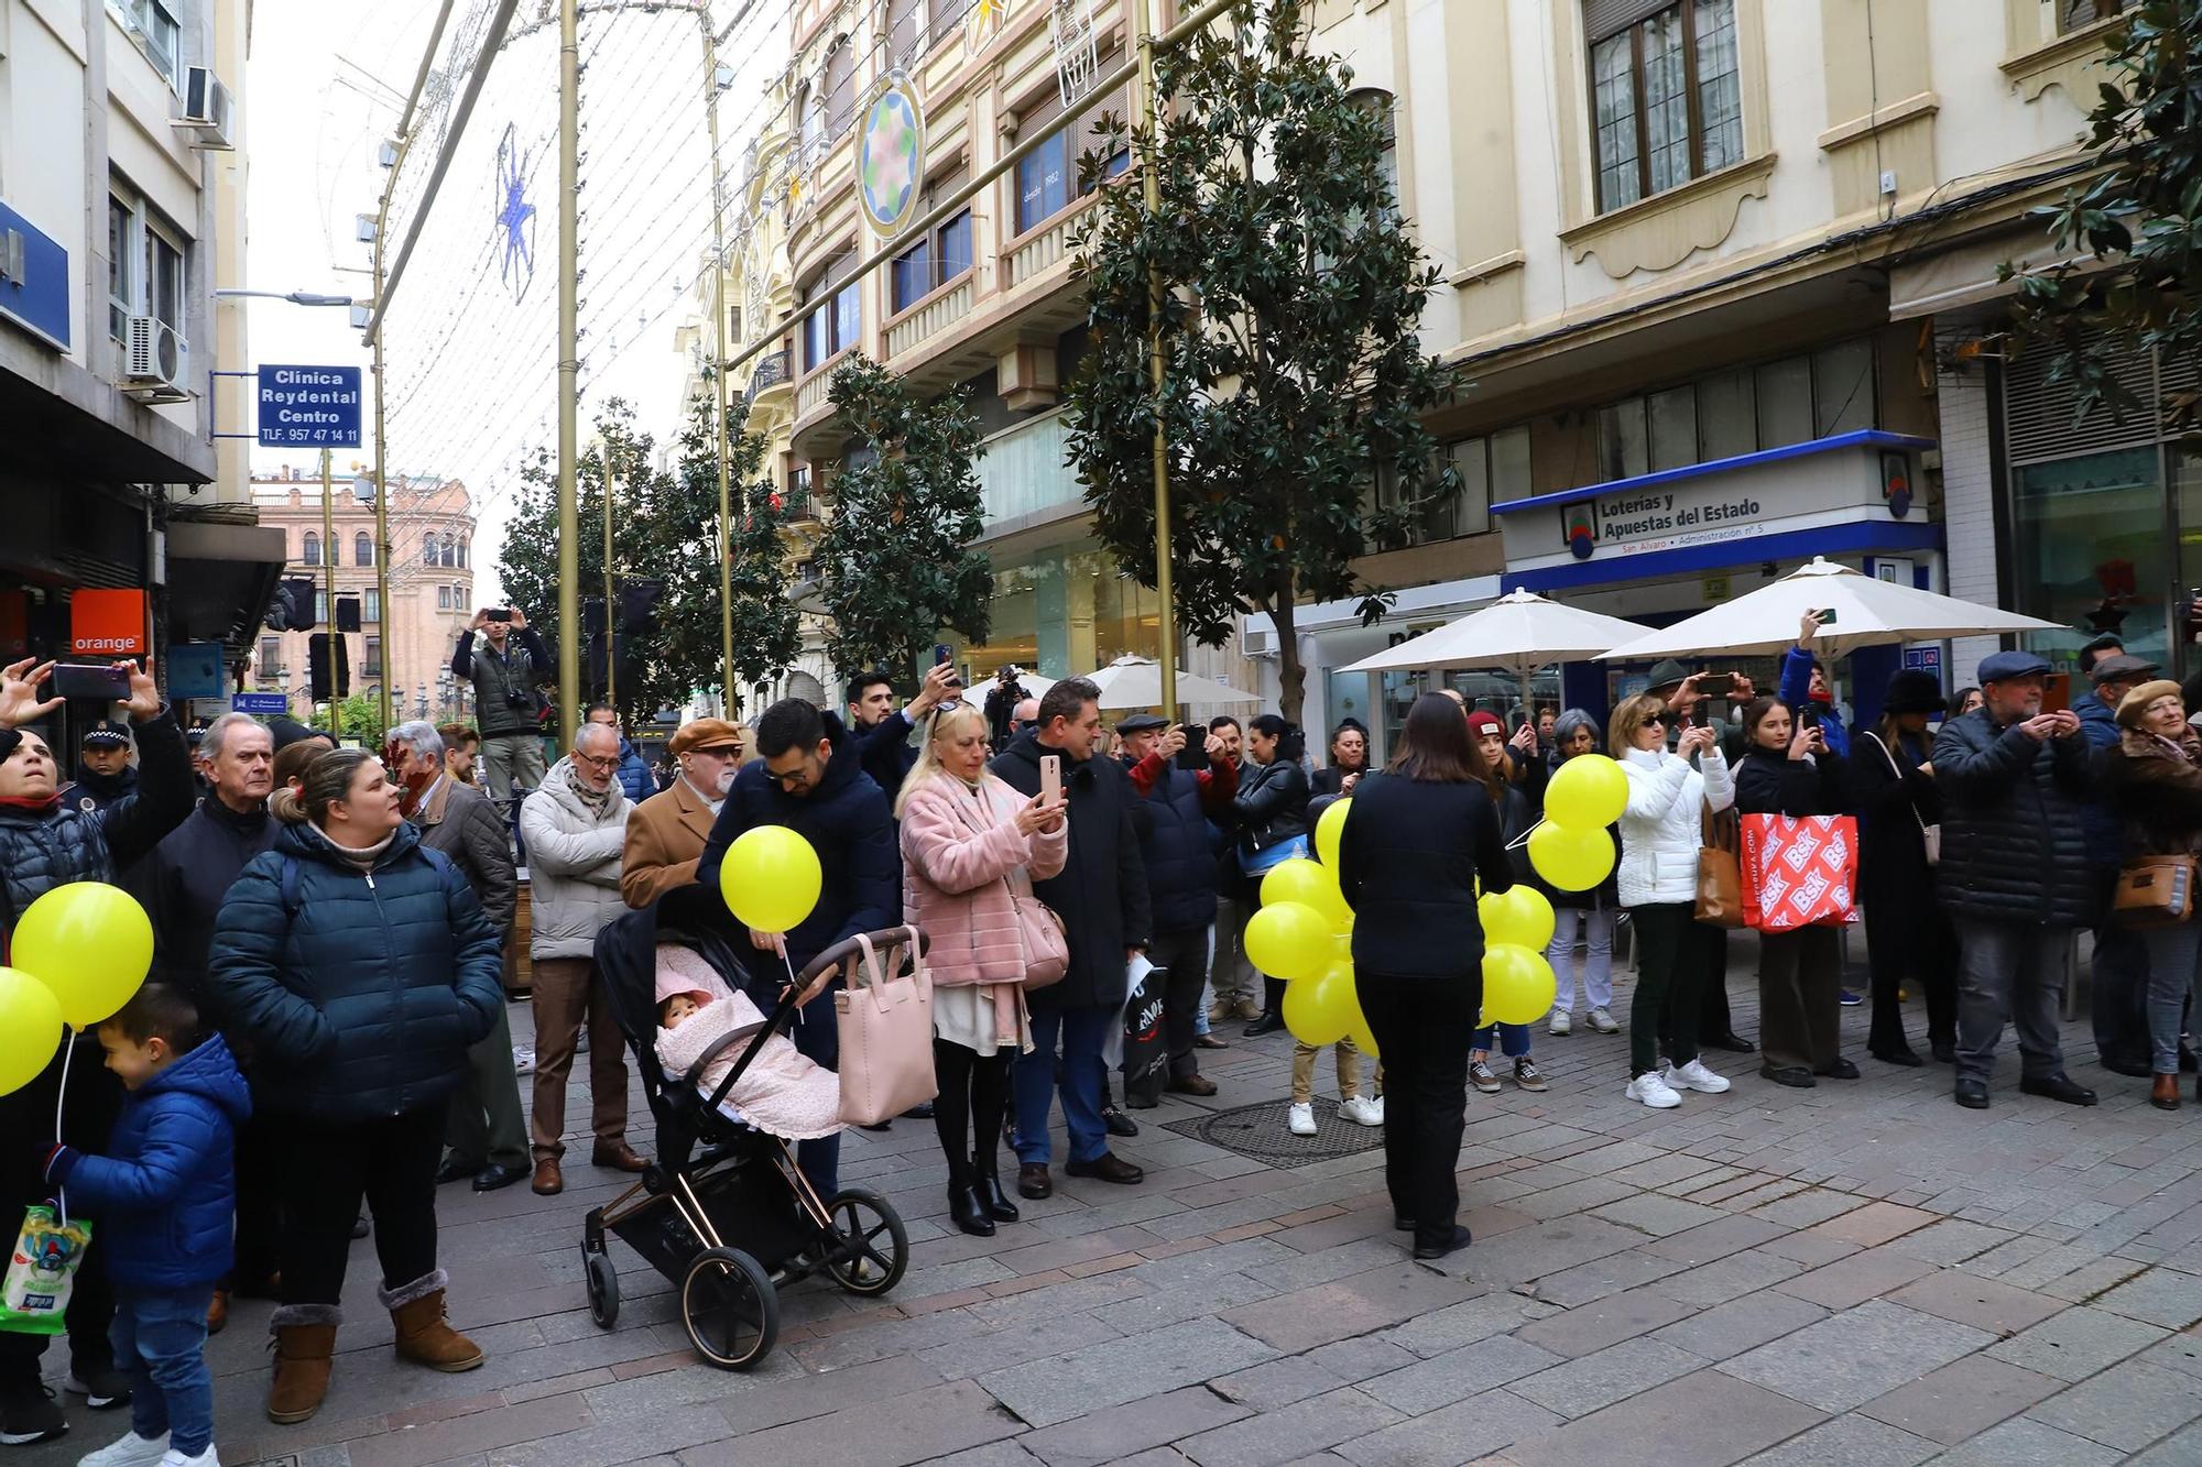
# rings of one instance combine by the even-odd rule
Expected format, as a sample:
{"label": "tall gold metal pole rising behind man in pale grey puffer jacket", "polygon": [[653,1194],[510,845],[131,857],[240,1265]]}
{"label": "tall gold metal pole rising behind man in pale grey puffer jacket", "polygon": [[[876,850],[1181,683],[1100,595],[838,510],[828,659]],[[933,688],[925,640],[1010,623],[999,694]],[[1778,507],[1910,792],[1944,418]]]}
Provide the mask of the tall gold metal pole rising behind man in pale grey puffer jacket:
{"label": "tall gold metal pole rising behind man in pale grey puffer jacket", "polygon": [[[511,13],[511,7],[504,7]],[[487,70],[487,66],[484,66]],[[573,747],[581,725],[581,520],[573,500],[579,438],[581,322],[581,40],[577,0],[557,7],[557,722]],[[407,240],[410,242],[410,240]],[[610,615],[610,608],[606,608]]]}

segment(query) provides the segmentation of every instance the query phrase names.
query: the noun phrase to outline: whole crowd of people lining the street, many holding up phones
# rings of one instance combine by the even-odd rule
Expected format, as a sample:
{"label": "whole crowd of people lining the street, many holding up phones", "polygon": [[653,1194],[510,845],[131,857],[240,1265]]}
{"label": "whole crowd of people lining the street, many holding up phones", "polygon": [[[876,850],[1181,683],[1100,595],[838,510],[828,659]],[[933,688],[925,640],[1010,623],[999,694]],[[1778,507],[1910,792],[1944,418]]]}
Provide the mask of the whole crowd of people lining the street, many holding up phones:
{"label": "whole crowd of people lining the street, many holding up phones", "polygon": [[[132,667],[130,698],[86,729],[64,784],[37,734],[59,707],[46,667],[7,667],[0,938],[66,881],[123,883],[154,927],[139,998],[66,1040],[81,1051],[73,1064],[57,1055],[0,1097],[0,1205],[66,1187],[108,1240],[75,1280],[66,1383],[95,1410],[130,1405],[132,1430],[84,1460],[214,1463],[203,1341],[240,1297],[275,1302],[269,1416],[313,1416],[333,1381],[350,1249],[370,1234],[399,1357],[480,1366],[445,1311],[438,1185],[528,1178],[559,1194],[566,1088],[584,1053],[590,1165],[645,1170],[597,934],[667,892],[716,892],[727,852],[760,826],[810,844],[821,896],[786,932],[735,934],[755,971],[793,978],[839,941],[903,921],[929,936],[938,1099],[909,1117],[931,1121],[947,1214],[973,1236],[1015,1220],[1013,1196],[1053,1194],[1057,1104],[1061,1172],[1136,1185],[1141,1167],[1110,1145],[1138,1132],[1127,1110],[1163,1090],[1216,1097],[1200,1057],[1229,1044],[1224,1029],[1284,1026],[1286,985],[1255,969],[1244,930],[1262,877],[1306,855],[1339,800],[1352,802],[1337,874],[1356,914],[1354,987],[1381,1060],[1363,1075],[1374,1055],[1332,1046],[1337,1119],[1383,1128],[1396,1220],[1418,1258],[1469,1242],[1453,1181],[1467,1090],[1548,1088],[1535,1026],[1482,1022],[1480,892],[1528,881],[1550,896],[1557,998],[1544,1033],[1625,1029],[1632,1101],[1671,1110],[1729,1090],[1707,1051],[1755,1051],[1777,1086],[1858,1077],[1841,1044],[1850,996],[1834,927],[1762,934],[1757,1042],[1733,1031],[1731,923],[1700,892],[1702,850],[1731,813],[1858,817],[1876,1062],[1927,1064],[1905,1024],[1909,991],[1960,1106],[1991,1104],[2006,1024],[2024,1093],[2094,1104],[2059,1044],[2072,938],[2090,927],[2101,1062],[2149,1077],[2151,1101],[2178,1108],[2202,925],[2143,905],[2134,870],[2167,863],[2191,881],[2202,857],[2202,738],[2180,687],[2105,641],[2083,654],[2087,696],[2043,711],[2050,665],[1997,652],[1955,703],[1936,676],[1898,672],[1881,716],[1845,727],[1814,632],[1808,617],[1775,694],[1663,663],[1603,738],[1585,709],[1522,709],[1508,729],[1504,711],[1453,689],[1427,694],[1383,769],[1354,720],[1310,760],[1277,714],[1187,725],[1132,711],[1108,729],[1090,681],[1031,698],[1004,670],[980,700],[949,663],[909,700],[870,672],[850,681],[846,711],[791,698],[753,727],[696,718],[672,734],[661,773],[595,705],[546,762],[535,696],[550,659],[513,610],[478,617],[454,659],[478,727],[405,722],[363,751],[229,714],[192,749],[152,674]],[[1610,753],[1627,784],[1614,870],[1555,890],[1524,841],[1552,775],[1592,753]],[[526,1108],[506,1018],[522,868]],[[1636,967],[1625,1020],[1621,932]],[[1110,1055],[1145,974],[1158,974],[1160,1062],[1119,1079]],[[705,978],[661,974],[667,1031],[722,991]],[[782,1073],[830,1084],[830,991],[788,1037]],[[1282,1115],[1295,1137],[1323,1128],[1319,1060],[1295,1042]],[[42,1145],[59,1101],[59,1143]],[[810,1185],[832,1194],[839,1128],[788,1139]],[[150,1227],[161,1214],[174,1225]],[[44,1337],[0,1333],[0,1443],[66,1430],[42,1350]]]}

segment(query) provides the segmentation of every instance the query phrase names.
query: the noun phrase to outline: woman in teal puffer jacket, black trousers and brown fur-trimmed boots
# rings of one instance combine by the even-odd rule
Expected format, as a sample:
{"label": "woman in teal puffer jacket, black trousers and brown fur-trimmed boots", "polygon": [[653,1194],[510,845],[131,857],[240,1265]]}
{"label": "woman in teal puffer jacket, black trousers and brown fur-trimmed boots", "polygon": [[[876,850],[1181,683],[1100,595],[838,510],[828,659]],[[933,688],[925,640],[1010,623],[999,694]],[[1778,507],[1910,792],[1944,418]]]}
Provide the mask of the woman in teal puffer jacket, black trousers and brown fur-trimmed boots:
{"label": "woman in teal puffer jacket, black trousers and brown fur-trimmed boots", "polygon": [[286,1137],[269,1416],[304,1421],[328,1388],[361,1196],[399,1355],[482,1363],[443,1319],[436,1165],[467,1046],[504,1002],[502,945],[467,879],[403,822],[372,756],[317,756],[269,808],[284,830],[229,888],[207,978]]}

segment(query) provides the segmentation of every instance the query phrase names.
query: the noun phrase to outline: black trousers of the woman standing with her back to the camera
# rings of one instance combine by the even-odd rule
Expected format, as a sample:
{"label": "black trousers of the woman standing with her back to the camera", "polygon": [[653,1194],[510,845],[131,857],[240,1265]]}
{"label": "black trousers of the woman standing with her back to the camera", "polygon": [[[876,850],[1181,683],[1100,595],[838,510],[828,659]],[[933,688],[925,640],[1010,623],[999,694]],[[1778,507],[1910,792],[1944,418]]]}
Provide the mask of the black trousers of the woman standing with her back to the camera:
{"label": "black trousers of the woman standing with her back to the camera", "polygon": [[1460,1132],[1469,1110],[1469,1035],[1484,1007],[1484,974],[1447,978],[1359,974],[1354,991],[1383,1051],[1383,1174],[1392,1209],[1414,1218],[1414,1240],[1447,1247],[1460,1211]]}

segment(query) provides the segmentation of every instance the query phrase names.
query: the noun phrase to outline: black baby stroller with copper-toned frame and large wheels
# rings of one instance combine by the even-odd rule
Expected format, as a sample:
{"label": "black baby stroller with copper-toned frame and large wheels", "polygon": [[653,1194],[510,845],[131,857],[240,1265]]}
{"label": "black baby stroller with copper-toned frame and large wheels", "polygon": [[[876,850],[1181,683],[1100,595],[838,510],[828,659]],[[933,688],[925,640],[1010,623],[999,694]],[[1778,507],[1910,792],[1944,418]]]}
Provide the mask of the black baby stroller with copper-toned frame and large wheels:
{"label": "black baby stroller with copper-toned frame and large wheels", "polygon": [[[722,1370],[749,1370],[771,1352],[780,1333],[780,1286],[824,1273],[848,1293],[883,1295],[909,1264],[909,1238],[887,1198],[868,1187],[843,1187],[821,1198],[786,1141],[731,1119],[718,1106],[764,1042],[786,1029],[795,1013],[793,993],[854,956],[857,938],[819,954],[784,996],[784,976],[751,978],[731,934],[733,919],[718,894],[694,885],[669,892],[654,908],[628,912],[597,936],[597,965],[643,1075],[658,1154],[641,1181],[588,1214],[581,1260],[588,1313],[601,1328],[619,1319],[619,1275],[603,1236],[610,1229],[680,1286],[680,1322],[696,1352]],[[883,956],[907,941],[907,927],[872,934]],[[727,1048],[742,1048],[711,1097],[698,1095],[689,1075],[667,1075],[658,1064],[658,943],[696,949],[766,1015],[764,1024],[722,1035],[696,1062],[691,1075]]]}

